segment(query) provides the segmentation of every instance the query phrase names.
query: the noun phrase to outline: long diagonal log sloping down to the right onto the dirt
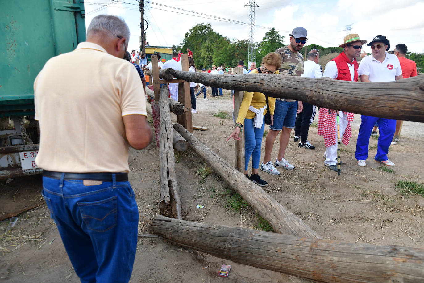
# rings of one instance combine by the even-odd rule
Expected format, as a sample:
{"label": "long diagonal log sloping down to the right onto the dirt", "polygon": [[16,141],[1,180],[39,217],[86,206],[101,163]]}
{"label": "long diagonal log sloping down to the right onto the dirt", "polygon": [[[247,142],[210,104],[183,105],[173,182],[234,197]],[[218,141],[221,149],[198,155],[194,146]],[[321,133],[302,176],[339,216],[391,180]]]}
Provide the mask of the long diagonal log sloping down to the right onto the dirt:
{"label": "long diagonal log sloping down to the right onto the dirt", "polygon": [[321,238],[320,235],[304,224],[303,221],[280,205],[279,202],[269,196],[261,187],[246,178],[243,173],[230,166],[225,160],[184,129],[183,126],[178,123],[173,124],[173,126],[187,140],[190,148],[205,160],[234,191],[240,193],[243,199],[268,221],[277,233]]}

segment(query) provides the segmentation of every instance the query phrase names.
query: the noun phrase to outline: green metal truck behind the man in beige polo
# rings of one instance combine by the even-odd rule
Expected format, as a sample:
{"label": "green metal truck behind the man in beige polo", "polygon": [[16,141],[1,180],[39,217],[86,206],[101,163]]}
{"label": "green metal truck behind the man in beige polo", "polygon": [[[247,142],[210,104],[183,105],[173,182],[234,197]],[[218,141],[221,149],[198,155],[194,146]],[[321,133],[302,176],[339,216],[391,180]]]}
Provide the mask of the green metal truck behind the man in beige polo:
{"label": "green metal truck behind the man in beige polo", "polygon": [[[1,2],[0,179],[41,172],[21,164],[23,152],[38,152],[38,135],[31,144],[28,129],[20,127],[24,117],[36,125],[34,79],[48,59],[74,50],[86,35],[83,0]],[[14,129],[7,126],[9,119]]]}

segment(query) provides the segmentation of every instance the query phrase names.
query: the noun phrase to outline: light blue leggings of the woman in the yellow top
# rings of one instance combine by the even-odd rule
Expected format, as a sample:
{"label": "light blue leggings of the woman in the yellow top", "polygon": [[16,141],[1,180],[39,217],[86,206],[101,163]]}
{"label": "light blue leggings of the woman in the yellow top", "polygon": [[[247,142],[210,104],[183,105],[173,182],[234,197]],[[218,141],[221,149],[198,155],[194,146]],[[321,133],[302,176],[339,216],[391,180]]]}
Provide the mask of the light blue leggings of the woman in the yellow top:
{"label": "light blue leggings of the woman in the yellow top", "polygon": [[252,168],[258,169],[261,160],[262,138],[265,129],[265,122],[262,128],[253,126],[253,119],[244,119],[244,170],[247,170],[250,156],[252,156]]}

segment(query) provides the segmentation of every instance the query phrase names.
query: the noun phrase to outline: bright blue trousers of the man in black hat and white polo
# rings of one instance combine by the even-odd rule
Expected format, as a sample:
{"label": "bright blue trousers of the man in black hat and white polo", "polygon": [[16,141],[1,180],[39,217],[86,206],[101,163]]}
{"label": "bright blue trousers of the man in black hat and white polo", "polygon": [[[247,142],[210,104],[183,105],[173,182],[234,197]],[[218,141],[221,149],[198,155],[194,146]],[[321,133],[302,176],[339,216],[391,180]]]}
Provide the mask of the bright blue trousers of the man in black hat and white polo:
{"label": "bright blue trousers of the man in black hat and white polo", "polygon": [[377,154],[374,159],[385,161],[389,158],[389,146],[395,134],[396,120],[371,117],[361,115],[361,126],[359,127],[358,140],[356,142],[356,160],[366,160],[368,158],[368,145],[370,142],[371,130],[375,123],[378,123],[380,136],[377,141]]}

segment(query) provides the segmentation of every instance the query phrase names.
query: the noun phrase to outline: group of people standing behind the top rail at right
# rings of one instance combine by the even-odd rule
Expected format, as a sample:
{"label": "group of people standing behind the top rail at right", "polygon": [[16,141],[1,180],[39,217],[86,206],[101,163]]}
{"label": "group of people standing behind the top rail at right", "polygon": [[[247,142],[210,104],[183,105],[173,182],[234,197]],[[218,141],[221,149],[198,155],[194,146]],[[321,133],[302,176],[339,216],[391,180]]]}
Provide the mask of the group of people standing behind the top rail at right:
{"label": "group of people standing behind the top rail at right", "polygon": [[[305,28],[297,27],[290,34],[290,44],[275,51],[281,58],[281,67],[276,72],[276,64],[270,64],[266,57],[262,60],[261,67],[251,71],[251,73],[279,73],[288,76],[303,76],[307,78],[332,78],[342,81],[362,81],[362,82],[386,82],[395,81],[402,78],[416,76],[416,64],[412,60],[406,59],[407,46],[398,44],[393,54],[387,52],[390,48],[389,40],[382,35],[375,36],[367,45],[371,47],[371,55],[361,53],[363,45],[367,40],[360,39],[358,34],[347,35],[339,47],[343,51],[328,62],[324,73],[319,65],[319,50],[310,50],[307,61],[298,51],[307,41],[307,31]],[[363,57],[358,64],[356,58]],[[243,65],[243,64],[239,64]],[[255,66],[256,67],[256,66]],[[265,71],[264,71],[265,69]],[[268,106],[265,101],[268,100]],[[267,109],[269,108],[269,109]],[[234,131],[231,137],[240,139],[238,134],[245,129],[245,174],[247,174],[247,164],[252,158],[252,174],[249,177],[254,183],[266,186],[268,183],[257,176],[260,158],[260,145],[265,126],[264,115],[266,111],[271,114],[269,132],[265,138],[265,153],[260,168],[272,175],[279,175],[277,168],[287,170],[295,169],[295,166],[285,159],[285,152],[290,140],[290,133],[295,129],[294,141],[298,142],[298,147],[304,149],[315,149],[308,140],[310,124],[314,120],[316,107],[302,101],[291,99],[267,98],[259,92],[245,92],[240,112],[237,117]],[[252,120],[253,119],[253,120]],[[326,150],[323,153],[324,165],[332,171],[340,170],[343,162],[338,159],[340,143],[349,144],[352,136],[350,123],[354,119],[354,114],[338,109],[319,109],[318,114],[318,135],[323,136]],[[254,130],[251,124],[253,123]],[[394,119],[378,118],[369,115],[361,115],[361,125],[358,133],[355,157],[357,164],[366,166],[368,158],[368,144],[373,127],[378,126],[379,138],[377,143],[377,154],[374,157],[379,163],[387,166],[395,164],[388,158],[388,150],[391,144],[399,141],[399,128],[402,121]],[[281,134],[280,134],[281,132]],[[271,161],[271,152],[277,135],[279,137],[279,151],[275,161]],[[339,155],[340,157],[340,155]],[[277,168],[276,168],[277,167]]]}

